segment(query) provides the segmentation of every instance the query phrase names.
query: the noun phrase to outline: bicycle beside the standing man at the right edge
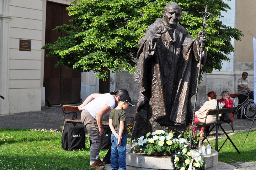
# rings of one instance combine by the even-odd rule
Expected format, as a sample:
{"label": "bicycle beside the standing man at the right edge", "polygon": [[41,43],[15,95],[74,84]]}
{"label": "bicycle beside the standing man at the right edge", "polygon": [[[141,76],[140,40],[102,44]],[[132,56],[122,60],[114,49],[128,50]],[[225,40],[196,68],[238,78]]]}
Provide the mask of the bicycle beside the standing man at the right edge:
{"label": "bicycle beside the standing man at the right edge", "polygon": [[237,114],[239,112],[239,110],[242,109],[243,114],[246,119],[254,120],[254,117],[256,115],[256,106],[254,104],[254,93],[249,90],[248,90],[248,93],[249,93],[249,95],[246,98],[246,100],[243,103],[238,104],[238,105],[236,105],[236,103],[235,103],[235,98],[238,97],[238,94],[230,94],[230,97],[233,98],[233,100],[231,99],[234,103],[233,107],[236,107],[234,114]]}

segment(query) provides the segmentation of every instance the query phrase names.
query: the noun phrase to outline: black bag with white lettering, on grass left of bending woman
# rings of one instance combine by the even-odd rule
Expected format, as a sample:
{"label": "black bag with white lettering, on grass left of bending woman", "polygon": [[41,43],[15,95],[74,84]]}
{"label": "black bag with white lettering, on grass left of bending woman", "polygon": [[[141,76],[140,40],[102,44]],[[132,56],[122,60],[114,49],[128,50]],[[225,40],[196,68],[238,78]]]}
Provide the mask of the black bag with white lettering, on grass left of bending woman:
{"label": "black bag with white lettering, on grass left of bending woman", "polygon": [[83,127],[65,127],[62,133],[62,148],[78,150],[85,148],[85,131]]}

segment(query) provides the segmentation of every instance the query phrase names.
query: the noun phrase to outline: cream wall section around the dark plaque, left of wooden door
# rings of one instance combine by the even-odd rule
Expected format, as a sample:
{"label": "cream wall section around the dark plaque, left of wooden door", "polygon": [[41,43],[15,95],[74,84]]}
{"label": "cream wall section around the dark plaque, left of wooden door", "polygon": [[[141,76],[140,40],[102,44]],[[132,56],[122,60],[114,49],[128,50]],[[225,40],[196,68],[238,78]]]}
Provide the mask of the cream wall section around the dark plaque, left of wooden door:
{"label": "cream wall section around the dark plaque, left of wooden door", "polygon": [[[42,0],[11,0],[9,102],[10,113],[41,110]],[[20,39],[31,51],[20,51]],[[15,107],[13,107],[15,106]]]}

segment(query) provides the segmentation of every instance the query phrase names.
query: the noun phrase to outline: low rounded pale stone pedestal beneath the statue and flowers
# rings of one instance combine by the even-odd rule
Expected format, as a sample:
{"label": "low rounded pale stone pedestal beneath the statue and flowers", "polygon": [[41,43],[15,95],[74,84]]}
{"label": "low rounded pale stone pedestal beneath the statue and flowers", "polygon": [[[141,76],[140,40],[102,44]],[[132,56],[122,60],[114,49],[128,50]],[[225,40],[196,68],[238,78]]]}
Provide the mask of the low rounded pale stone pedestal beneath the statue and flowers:
{"label": "low rounded pale stone pedestal beneath the statue and flowers", "polygon": [[[204,155],[204,162],[207,168],[218,165],[218,152],[212,149],[212,154]],[[140,153],[126,154],[127,170],[172,170],[171,157],[168,156],[147,156]]]}

